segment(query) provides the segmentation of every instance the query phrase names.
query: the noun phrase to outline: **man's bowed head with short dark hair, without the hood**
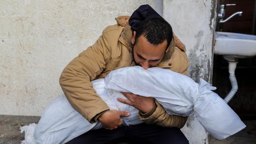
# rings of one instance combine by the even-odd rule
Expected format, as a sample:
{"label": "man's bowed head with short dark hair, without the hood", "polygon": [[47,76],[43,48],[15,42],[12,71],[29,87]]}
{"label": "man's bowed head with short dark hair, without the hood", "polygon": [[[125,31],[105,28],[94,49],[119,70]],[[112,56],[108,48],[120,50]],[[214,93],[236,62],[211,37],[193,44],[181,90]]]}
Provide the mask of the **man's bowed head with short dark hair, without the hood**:
{"label": "man's bowed head with short dark hair, without the hood", "polygon": [[136,64],[144,69],[158,65],[168,52],[172,39],[171,25],[163,18],[148,18],[141,22],[132,37]]}

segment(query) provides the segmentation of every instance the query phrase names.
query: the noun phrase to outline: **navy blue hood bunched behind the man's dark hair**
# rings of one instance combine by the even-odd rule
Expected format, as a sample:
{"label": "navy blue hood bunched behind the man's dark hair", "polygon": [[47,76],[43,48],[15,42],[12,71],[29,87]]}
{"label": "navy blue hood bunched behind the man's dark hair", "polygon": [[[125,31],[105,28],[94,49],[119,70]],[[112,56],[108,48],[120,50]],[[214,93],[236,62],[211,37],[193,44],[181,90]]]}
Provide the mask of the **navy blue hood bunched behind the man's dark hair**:
{"label": "navy blue hood bunched behind the man's dark hair", "polygon": [[132,13],[132,16],[129,19],[129,24],[132,27],[132,30],[136,31],[139,27],[139,24],[147,18],[163,18],[159,15],[152,7],[148,4],[139,6],[138,9]]}

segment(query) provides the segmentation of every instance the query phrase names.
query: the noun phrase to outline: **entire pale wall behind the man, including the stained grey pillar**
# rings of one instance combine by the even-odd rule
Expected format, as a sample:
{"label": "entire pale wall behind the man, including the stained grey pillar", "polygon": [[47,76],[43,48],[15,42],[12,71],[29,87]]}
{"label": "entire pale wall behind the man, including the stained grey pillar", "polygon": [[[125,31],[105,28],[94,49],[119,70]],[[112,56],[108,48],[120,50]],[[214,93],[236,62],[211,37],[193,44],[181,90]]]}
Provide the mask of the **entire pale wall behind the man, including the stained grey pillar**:
{"label": "entire pale wall behind the man, including the stained grey pillar", "polygon": [[[0,5],[0,114],[40,116],[62,94],[59,76],[115,17],[150,4],[187,46],[189,76],[211,81],[213,0],[16,0]],[[208,143],[194,116],[182,129],[191,144]]]}

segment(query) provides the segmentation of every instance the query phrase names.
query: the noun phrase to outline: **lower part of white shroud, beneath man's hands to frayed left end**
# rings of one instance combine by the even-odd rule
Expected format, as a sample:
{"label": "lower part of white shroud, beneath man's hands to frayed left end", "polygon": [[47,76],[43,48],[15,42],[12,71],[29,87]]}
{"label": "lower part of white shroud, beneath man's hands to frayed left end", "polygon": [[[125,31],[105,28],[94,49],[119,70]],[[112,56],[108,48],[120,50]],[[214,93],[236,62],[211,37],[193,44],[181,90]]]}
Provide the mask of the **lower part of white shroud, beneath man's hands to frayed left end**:
{"label": "lower part of white shroud, beneath man's hands to frayed left end", "polygon": [[[109,96],[104,88],[104,79],[92,81],[96,93],[108,104],[111,110],[129,111],[130,116],[122,120],[126,125],[141,124],[137,109],[130,105],[120,103],[116,98],[125,98],[121,92],[118,92],[115,98]],[[65,95],[61,95],[51,102],[43,111],[39,123],[33,132],[34,140],[27,140],[25,131],[25,140],[22,144],[65,144],[75,137],[86,133],[91,129],[100,129],[100,122],[90,124],[81,114],[79,114],[69,103]],[[23,132],[23,131],[22,131]]]}

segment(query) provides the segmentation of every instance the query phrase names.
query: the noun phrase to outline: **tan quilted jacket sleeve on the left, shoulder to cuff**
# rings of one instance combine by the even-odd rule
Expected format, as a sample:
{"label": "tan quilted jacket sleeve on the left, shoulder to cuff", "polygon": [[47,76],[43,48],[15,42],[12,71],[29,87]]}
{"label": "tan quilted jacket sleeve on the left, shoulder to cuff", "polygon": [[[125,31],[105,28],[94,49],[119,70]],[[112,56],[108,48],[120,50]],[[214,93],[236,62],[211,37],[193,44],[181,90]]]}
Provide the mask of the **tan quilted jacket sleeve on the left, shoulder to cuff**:
{"label": "tan quilted jacket sleeve on the left, shoulder to cuff", "polygon": [[109,55],[106,28],[93,46],[80,53],[64,68],[59,78],[67,100],[90,123],[109,111],[108,105],[96,94],[91,83],[104,70]]}

